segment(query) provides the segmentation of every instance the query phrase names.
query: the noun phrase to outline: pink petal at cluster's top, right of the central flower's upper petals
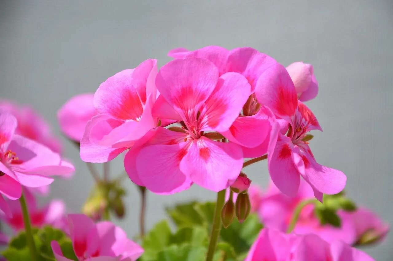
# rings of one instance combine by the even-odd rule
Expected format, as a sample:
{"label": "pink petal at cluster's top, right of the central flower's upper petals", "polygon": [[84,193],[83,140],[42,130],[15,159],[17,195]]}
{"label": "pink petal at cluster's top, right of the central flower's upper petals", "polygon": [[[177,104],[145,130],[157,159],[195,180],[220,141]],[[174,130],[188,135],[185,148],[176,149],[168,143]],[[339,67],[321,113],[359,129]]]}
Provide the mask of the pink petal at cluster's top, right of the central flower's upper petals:
{"label": "pink petal at cluster's top, right of the central flower's upper petals", "polygon": [[259,77],[276,63],[266,54],[259,53],[250,47],[242,47],[229,52],[226,71],[243,74],[251,85],[251,91],[254,92]]}

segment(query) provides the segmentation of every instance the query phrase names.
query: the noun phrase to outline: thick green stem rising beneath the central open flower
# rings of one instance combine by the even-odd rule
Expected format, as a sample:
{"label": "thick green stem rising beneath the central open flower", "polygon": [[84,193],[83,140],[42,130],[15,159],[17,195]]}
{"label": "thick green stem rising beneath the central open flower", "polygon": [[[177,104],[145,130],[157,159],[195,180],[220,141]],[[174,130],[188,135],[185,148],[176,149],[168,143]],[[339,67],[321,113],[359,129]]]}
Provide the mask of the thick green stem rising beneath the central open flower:
{"label": "thick green stem rising beneath the central open flower", "polygon": [[211,228],[210,242],[208,255],[206,256],[206,261],[213,260],[214,252],[217,245],[217,239],[221,230],[221,211],[224,206],[225,201],[225,189],[217,193],[217,203],[213,217],[213,226]]}

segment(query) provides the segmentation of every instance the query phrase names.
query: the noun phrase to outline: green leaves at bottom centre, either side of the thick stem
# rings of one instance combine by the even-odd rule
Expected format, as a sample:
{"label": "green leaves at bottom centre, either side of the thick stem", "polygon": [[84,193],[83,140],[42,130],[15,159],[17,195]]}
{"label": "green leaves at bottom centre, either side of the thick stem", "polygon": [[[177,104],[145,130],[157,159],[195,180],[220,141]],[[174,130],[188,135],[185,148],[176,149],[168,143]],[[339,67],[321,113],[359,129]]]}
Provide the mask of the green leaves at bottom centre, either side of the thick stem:
{"label": "green leaves at bottom centre, either side of the thick stem", "polygon": [[[141,260],[205,260],[214,208],[215,203],[211,202],[191,202],[167,208],[176,226],[175,232],[172,232],[168,221],[157,223],[143,239],[145,253]],[[214,260],[242,260],[261,228],[255,215],[250,215],[242,224],[234,220],[228,228],[222,228]]]}

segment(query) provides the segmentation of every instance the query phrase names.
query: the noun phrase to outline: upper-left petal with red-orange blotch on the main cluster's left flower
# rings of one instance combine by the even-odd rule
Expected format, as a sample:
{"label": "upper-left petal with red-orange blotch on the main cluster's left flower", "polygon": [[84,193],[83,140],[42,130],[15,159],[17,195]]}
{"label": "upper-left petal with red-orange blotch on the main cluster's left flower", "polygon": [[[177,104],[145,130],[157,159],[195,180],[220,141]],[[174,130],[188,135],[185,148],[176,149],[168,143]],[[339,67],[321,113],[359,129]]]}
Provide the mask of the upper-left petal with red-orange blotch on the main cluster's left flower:
{"label": "upper-left petal with red-orange blotch on the main cluster's left flower", "polygon": [[94,94],[94,107],[100,114],[118,120],[137,120],[143,107],[138,89],[132,80],[133,69],[126,69],[101,83]]}

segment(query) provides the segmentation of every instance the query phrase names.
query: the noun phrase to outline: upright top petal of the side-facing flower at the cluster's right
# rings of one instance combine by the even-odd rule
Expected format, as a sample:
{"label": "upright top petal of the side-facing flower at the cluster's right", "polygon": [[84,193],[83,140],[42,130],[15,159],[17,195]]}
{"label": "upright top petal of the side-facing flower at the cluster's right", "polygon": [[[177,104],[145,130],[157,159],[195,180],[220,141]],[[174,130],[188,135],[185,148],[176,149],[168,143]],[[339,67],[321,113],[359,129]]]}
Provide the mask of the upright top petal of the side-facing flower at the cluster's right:
{"label": "upright top petal of the side-facing flower at the cluster's right", "polygon": [[255,94],[259,103],[268,106],[276,116],[287,121],[290,121],[289,117],[298,106],[294,84],[286,69],[279,63],[261,74]]}

